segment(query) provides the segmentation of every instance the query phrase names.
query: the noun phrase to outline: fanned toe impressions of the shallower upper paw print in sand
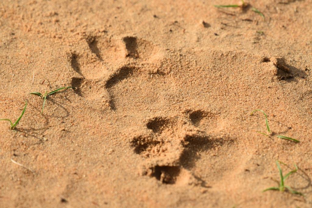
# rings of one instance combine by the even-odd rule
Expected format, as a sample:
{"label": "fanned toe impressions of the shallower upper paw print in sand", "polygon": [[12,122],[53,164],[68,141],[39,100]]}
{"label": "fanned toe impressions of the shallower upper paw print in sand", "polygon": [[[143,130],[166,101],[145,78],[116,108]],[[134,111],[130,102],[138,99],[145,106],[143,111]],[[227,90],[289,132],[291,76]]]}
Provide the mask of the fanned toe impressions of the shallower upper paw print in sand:
{"label": "fanned toe impressions of the shallower upper paw print in sand", "polygon": [[[89,100],[99,100],[115,110],[110,88],[127,78],[137,62],[152,59],[158,47],[134,36],[112,38],[107,35],[88,36],[78,49],[67,53],[71,68],[77,73],[71,84],[75,92]],[[83,50],[81,50],[83,48]]]}

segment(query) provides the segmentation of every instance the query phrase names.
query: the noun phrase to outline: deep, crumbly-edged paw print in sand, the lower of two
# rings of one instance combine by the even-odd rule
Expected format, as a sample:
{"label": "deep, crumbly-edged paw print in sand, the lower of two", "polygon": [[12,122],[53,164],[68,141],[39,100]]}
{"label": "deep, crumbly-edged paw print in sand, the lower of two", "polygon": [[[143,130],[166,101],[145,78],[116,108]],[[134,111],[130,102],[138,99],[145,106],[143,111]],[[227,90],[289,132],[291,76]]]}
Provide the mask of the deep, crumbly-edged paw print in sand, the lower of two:
{"label": "deep, crumbly-edged paw print in sand, the lower of two", "polygon": [[[157,178],[166,184],[201,184],[202,182],[183,167],[183,155],[193,151],[192,143],[209,143],[206,133],[192,124],[189,114],[148,120],[144,130],[131,140],[134,153],[144,158],[141,174]],[[191,158],[188,158],[191,159]]]}

